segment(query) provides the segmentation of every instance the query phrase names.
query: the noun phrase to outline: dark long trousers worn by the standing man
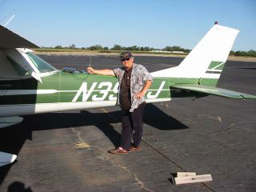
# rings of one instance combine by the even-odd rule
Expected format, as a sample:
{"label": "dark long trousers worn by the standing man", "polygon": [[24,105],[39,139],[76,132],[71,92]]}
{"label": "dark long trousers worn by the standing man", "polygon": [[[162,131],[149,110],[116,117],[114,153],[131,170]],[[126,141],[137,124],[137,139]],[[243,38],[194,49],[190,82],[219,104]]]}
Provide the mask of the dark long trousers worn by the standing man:
{"label": "dark long trousers worn by the standing man", "polygon": [[135,147],[141,144],[144,106],[145,103],[142,103],[132,113],[129,110],[122,110],[121,146],[126,150],[130,150],[131,138],[134,140]]}

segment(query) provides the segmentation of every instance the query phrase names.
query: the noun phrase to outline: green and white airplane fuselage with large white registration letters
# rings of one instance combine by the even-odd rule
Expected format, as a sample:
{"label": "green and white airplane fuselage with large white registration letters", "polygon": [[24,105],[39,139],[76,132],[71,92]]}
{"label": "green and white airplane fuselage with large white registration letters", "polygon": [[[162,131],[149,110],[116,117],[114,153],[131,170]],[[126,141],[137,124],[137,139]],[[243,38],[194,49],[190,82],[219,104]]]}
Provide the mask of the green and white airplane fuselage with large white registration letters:
{"label": "green and white airplane fuselage with large white registration letters", "polygon": [[[58,70],[41,78],[43,83],[34,78],[0,81],[0,117],[118,105],[118,78],[113,76]],[[175,78],[154,78],[145,94],[146,102],[205,96],[170,89],[176,81]],[[193,80],[184,80],[187,81]]]}

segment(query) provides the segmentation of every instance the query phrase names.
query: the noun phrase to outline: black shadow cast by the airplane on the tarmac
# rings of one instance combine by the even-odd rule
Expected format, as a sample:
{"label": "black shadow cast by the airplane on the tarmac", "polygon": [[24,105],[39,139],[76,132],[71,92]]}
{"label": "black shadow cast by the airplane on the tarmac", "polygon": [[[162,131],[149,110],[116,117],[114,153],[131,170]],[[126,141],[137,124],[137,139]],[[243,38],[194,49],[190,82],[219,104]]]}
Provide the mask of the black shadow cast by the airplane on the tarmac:
{"label": "black shadow cast by the airplane on the tarmac", "polygon": [[[24,121],[16,126],[0,129],[0,150],[10,154],[18,154],[26,140],[33,140],[33,131],[54,130],[78,126],[96,126],[118,146],[121,135],[114,130],[112,123],[121,122],[121,111],[110,113],[91,113],[82,110],[81,113],[63,112],[50,114],[35,114],[24,116]],[[158,130],[188,129],[177,119],[170,117],[153,104],[147,104],[144,122]],[[121,126],[121,125],[120,125]],[[12,165],[0,167],[0,186],[6,178]]]}

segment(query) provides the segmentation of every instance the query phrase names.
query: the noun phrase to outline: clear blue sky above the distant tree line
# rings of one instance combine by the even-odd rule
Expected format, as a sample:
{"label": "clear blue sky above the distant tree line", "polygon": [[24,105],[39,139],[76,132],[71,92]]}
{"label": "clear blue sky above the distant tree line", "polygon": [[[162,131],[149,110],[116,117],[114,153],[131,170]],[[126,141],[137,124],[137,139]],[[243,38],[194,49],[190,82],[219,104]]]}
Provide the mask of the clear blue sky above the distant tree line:
{"label": "clear blue sky above the distant tree line", "polygon": [[219,25],[240,30],[232,50],[256,50],[256,0],[0,0],[0,24],[38,46],[181,46]]}

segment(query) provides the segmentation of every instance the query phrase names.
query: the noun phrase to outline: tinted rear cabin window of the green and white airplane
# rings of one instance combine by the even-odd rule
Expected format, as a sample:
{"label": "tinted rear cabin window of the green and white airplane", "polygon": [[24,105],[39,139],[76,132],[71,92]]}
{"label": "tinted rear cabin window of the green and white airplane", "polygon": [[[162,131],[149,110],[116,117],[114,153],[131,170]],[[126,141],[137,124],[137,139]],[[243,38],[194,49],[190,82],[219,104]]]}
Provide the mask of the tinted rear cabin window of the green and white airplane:
{"label": "tinted rear cabin window of the green and white airplane", "polygon": [[27,56],[31,59],[34,63],[34,66],[38,68],[40,73],[46,73],[50,71],[56,70],[53,66],[51,66],[48,62],[44,61],[42,58],[39,58],[37,55],[32,53],[26,53]]}

